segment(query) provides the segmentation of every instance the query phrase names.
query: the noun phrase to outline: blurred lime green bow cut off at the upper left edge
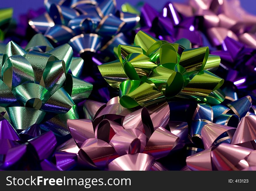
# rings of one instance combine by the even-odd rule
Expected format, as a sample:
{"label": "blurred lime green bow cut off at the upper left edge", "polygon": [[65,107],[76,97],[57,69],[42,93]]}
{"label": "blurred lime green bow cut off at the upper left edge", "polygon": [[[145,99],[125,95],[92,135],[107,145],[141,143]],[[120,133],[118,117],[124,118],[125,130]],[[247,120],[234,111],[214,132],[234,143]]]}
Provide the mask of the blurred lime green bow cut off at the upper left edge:
{"label": "blurred lime green bow cut off at the upper left edge", "polygon": [[13,17],[13,8],[0,9],[0,40],[4,39],[5,31]]}

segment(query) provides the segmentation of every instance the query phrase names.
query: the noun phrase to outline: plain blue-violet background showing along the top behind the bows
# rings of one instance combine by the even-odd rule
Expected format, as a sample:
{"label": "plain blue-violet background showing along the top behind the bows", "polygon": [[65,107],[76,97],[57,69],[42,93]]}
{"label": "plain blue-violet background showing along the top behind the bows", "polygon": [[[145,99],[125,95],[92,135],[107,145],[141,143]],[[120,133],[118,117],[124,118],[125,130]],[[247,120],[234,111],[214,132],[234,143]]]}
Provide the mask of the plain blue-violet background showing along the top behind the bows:
{"label": "plain blue-violet background showing along the top behind the bows", "polygon": [[[0,0],[0,8],[13,7],[14,17],[17,19],[18,15],[26,13],[29,9],[38,9],[43,6],[43,0]],[[129,2],[132,5],[136,5],[141,0],[116,0],[118,8],[122,3]],[[144,0],[151,4],[156,9],[161,9],[167,1],[171,0]],[[187,0],[173,0],[172,2],[186,2]],[[256,0],[240,0],[241,5],[248,12],[256,14]]]}

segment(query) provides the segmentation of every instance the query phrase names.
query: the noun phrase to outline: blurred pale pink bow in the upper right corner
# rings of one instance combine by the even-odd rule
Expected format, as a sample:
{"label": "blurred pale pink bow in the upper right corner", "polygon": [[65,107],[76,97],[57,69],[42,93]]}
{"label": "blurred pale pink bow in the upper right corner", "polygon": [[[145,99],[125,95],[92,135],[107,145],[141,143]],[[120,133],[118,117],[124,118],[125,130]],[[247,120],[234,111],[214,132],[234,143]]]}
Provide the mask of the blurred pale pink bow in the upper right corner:
{"label": "blurred pale pink bow in the upper right corner", "polygon": [[230,37],[255,48],[256,17],[246,12],[239,0],[211,0],[201,4],[193,0],[185,9],[181,10],[181,6],[179,3],[175,5],[181,14],[190,9],[194,16],[204,18],[207,37],[214,46],[221,45],[226,37]]}

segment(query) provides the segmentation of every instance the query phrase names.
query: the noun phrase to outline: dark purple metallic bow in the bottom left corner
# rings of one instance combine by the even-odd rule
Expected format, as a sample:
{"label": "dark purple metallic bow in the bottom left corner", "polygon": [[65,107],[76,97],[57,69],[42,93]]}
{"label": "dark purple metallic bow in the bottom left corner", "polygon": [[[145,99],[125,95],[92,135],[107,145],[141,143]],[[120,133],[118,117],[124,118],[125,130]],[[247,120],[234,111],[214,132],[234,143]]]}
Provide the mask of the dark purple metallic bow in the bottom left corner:
{"label": "dark purple metallic bow in the bottom left corner", "polygon": [[[51,162],[57,140],[52,131],[40,132],[38,125],[18,134],[7,119],[0,119],[0,169],[62,170]],[[50,160],[49,160],[50,159]]]}

